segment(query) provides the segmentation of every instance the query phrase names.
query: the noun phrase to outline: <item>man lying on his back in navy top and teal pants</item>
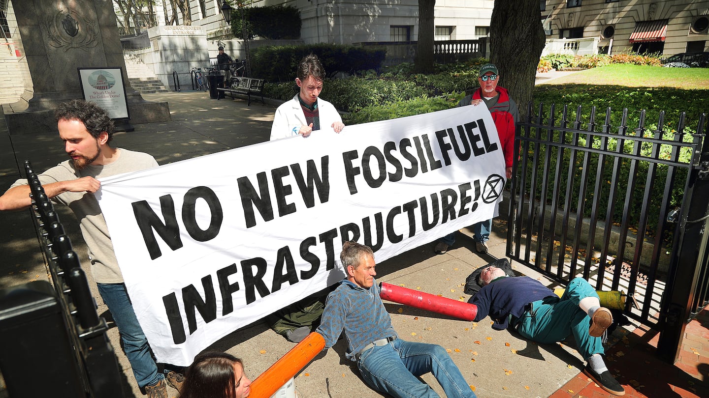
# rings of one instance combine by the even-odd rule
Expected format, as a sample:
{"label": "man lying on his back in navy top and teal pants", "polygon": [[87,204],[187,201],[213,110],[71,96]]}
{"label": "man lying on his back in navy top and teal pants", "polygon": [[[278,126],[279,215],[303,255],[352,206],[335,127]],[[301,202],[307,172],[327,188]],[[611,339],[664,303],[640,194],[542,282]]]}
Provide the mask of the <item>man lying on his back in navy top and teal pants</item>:
{"label": "man lying on his back in navy top and teal pants", "polygon": [[516,329],[537,343],[556,343],[573,334],[579,353],[588,365],[584,373],[614,395],[625,389],[603,361],[601,336],[613,323],[610,310],[601,307],[598,293],[584,278],[574,278],[561,298],[554,290],[528,276],[508,277],[501,268],[489,266],[480,273],[479,292],[468,302],[478,307],[475,321],[488,315],[493,329]]}

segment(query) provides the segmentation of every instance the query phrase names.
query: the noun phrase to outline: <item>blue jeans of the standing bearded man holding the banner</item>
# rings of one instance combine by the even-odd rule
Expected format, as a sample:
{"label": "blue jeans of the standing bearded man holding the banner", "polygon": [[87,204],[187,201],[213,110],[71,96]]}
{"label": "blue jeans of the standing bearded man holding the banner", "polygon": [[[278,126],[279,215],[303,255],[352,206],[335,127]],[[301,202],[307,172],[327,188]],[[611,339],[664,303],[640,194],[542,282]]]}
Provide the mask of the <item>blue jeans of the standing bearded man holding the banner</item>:
{"label": "blue jeans of the standing bearded man holding the banner", "polygon": [[138,324],[135,317],[133,305],[128,298],[128,291],[125,290],[124,283],[96,283],[99,286],[99,294],[111,311],[113,321],[118,326],[123,342],[123,351],[128,357],[130,367],[133,368],[133,375],[138,381],[138,387],[155,385],[164,379],[162,373],[157,372],[157,364],[152,358],[150,346],[143,329]]}

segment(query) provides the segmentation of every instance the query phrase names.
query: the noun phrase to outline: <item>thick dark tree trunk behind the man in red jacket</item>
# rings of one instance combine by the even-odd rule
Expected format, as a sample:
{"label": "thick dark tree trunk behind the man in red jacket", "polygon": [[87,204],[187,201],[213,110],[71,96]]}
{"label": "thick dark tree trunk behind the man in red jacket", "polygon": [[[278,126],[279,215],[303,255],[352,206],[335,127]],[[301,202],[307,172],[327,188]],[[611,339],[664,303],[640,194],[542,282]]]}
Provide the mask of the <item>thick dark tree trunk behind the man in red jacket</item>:
{"label": "thick dark tree trunk behind the man in red jacket", "polygon": [[500,72],[500,86],[527,115],[546,36],[539,0],[495,0],[490,21],[490,62]]}

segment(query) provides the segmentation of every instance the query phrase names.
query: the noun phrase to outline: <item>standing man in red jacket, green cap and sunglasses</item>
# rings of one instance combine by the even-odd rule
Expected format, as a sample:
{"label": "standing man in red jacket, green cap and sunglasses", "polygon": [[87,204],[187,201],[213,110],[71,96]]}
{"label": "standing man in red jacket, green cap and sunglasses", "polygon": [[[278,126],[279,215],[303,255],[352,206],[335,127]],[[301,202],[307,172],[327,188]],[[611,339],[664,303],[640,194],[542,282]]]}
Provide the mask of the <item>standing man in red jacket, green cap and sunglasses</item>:
{"label": "standing man in red jacket, green cap and sunglasses", "polygon": [[[480,103],[490,110],[492,120],[497,127],[497,134],[502,144],[502,152],[505,155],[506,178],[512,177],[512,159],[515,144],[515,123],[519,119],[517,104],[510,98],[506,89],[498,86],[500,74],[494,64],[484,64],[478,72],[478,83],[480,88],[469,96],[466,96],[458,103],[458,106],[473,105]],[[492,220],[485,220],[473,224],[475,249],[479,253],[487,253],[487,241],[492,229]],[[437,254],[445,254],[448,247],[455,243],[455,232],[447,234],[438,240],[434,250]]]}

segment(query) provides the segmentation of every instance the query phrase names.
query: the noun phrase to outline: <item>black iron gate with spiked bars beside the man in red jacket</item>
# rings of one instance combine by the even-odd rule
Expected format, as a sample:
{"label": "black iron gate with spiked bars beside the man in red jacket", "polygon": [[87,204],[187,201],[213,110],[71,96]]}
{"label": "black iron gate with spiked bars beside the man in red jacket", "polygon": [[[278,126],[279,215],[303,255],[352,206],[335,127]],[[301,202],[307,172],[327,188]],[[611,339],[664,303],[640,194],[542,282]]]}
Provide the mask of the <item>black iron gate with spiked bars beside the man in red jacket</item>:
{"label": "black iron gate with spiked bars beside the man in red jacket", "polygon": [[661,356],[674,362],[709,298],[705,115],[686,133],[684,113],[673,126],[664,112],[656,123],[644,110],[607,108],[601,123],[595,107],[569,113],[530,105],[517,123],[507,254],[562,285],[581,276],[626,292],[627,317],[661,330]]}

